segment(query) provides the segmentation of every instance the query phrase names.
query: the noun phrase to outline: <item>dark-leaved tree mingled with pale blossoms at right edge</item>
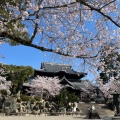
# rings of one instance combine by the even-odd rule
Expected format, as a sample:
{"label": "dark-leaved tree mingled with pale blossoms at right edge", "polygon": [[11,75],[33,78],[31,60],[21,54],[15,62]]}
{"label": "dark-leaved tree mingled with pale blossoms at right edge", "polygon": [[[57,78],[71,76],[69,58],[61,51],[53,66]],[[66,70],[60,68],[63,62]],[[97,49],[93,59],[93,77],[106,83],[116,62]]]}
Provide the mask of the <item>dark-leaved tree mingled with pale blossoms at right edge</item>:
{"label": "dark-leaved tree mingled with pale blossoms at right edge", "polygon": [[109,82],[111,77],[120,80],[120,55],[114,45],[105,45],[101,50],[98,70],[103,83]]}

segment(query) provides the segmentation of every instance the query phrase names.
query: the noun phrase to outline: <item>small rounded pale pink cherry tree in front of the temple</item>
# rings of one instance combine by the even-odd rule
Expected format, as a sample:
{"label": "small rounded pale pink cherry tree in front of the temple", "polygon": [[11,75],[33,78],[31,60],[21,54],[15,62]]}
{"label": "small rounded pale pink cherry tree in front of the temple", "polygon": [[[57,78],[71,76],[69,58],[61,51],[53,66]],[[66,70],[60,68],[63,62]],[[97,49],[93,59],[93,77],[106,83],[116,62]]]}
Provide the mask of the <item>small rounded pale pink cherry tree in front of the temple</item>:
{"label": "small rounded pale pink cherry tree in front of the temple", "polygon": [[57,77],[43,77],[37,76],[30,83],[30,91],[29,93],[33,95],[40,95],[41,98],[43,94],[46,96],[55,96],[58,95],[60,90],[62,89],[60,80]]}

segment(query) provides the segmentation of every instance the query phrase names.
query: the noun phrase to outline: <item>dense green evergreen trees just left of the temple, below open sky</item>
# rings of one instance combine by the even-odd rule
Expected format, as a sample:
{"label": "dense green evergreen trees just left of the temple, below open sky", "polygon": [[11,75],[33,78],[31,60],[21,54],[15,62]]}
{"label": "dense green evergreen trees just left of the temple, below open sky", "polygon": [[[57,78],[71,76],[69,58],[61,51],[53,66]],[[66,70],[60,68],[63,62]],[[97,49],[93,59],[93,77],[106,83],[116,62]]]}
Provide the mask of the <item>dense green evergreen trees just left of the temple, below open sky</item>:
{"label": "dense green evergreen trees just left of the temple, below open sky", "polygon": [[17,92],[22,90],[23,83],[28,82],[28,78],[34,75],[34,69],[30,66],[16,66],[16,65],[3,65],[7,81],[12,82],[11,94],[15,95]]}

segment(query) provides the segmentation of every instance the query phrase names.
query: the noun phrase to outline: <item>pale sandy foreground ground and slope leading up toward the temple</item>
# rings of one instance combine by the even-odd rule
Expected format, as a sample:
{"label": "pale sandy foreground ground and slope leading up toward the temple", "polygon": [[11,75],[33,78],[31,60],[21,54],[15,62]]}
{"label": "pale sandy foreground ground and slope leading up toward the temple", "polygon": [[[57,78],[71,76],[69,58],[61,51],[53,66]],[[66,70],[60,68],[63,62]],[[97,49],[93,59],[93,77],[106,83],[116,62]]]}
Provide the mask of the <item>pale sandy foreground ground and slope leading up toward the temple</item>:
{"label": "pale sandy foreground ground and slope leading up toward the temple", "polygon": [[[95,103],[79,103],[78,107],[82,111],[81,114],[61,114],[61,115],[49,115],[49,114],[20,114],[20,115],[4,115],[0,113],[0,120],[88,120],[85,119],[87,114],[87,108],[94,105],[97,113],[100,116],[99,120],[111,120],[114,116],[114,111],[106,108],[105,104]],[[97,119],[94,119],[97,120]]]}

